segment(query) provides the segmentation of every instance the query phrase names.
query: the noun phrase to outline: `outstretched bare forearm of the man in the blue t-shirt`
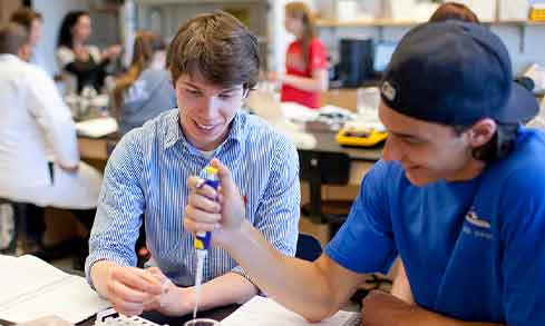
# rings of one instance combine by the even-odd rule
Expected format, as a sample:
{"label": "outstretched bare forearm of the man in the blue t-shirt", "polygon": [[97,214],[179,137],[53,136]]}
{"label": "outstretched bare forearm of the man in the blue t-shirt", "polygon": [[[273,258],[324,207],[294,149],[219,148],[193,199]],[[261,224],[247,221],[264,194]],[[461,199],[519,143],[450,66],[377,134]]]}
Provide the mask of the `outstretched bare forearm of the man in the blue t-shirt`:
{"label": "outstretched bare forearm of the man in the blue t-shirt", "polygon": [[317,265],[282,255],[247,221],[232,236],[239,240],[230,241],[227,250],[267,296],[310,320],[337,312],[335,298]]}

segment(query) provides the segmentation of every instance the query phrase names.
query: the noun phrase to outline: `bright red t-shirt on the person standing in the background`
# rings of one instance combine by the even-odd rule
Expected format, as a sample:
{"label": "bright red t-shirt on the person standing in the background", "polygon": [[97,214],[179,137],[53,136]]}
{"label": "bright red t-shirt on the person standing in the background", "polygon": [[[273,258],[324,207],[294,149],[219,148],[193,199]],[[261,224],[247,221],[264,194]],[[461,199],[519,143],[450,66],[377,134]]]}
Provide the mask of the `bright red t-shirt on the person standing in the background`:
{"label": "bright red t-shirt on the person standing in the background", "polygon": [[[286,75],[312,77],[312,73],[317,69],[325,69],[327,67],[328,58],[325,55],[325,48],[319,39],[313,39],[309,43],[309,51],[306,52],[306,65],[304,65],[303,51],[300,40],[292,42],[288,47],[288,53],[285,56]],[[319,92],[301,90],[285,83],[282,85],[280,99],[283,102],[293,101],[309,108],[320,107]]]}

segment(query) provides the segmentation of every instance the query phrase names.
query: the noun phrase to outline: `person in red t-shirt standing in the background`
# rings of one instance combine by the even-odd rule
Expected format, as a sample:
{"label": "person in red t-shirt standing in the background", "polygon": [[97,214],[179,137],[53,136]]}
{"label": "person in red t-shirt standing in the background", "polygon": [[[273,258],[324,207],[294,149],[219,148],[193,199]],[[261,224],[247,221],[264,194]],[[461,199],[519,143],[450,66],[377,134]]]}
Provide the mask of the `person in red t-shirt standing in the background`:
{"label": "person in red t-shirt standing in the background", "polygon": [[325,48],[315,36],[314,19],[304,2],[285,6],[285,29],[296,37],[288,47],[281,101],[293,101],[309,108],[320,107],[320,92],[328,89]]}

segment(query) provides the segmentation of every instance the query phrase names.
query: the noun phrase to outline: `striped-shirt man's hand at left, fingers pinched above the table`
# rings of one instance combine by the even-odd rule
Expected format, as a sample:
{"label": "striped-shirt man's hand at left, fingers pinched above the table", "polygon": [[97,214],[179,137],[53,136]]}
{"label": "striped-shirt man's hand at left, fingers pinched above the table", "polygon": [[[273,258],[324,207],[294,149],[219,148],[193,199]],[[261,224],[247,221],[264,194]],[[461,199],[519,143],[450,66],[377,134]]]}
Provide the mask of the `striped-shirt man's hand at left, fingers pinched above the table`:
{"label": "striped-shirt man's hand at left, fingers pinched above the table", "polygon": [[159,279],[147,270],[109,265],[106,275],[101,294],[124,315],[140,315],[145,304],[162,294]]}

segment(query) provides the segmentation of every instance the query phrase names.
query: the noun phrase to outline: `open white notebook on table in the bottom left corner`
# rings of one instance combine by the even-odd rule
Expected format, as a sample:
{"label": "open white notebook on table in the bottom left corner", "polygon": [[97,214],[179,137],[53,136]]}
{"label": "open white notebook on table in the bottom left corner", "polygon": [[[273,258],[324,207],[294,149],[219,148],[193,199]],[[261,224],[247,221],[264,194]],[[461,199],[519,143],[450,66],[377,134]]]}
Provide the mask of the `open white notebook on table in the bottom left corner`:
{"label": "open white notebook on table in the bottom left corner", "polygon": [[0,255],[0,319],[23,323],[55,315],[71,324],[109,307],[86,279],[30,255]]}

